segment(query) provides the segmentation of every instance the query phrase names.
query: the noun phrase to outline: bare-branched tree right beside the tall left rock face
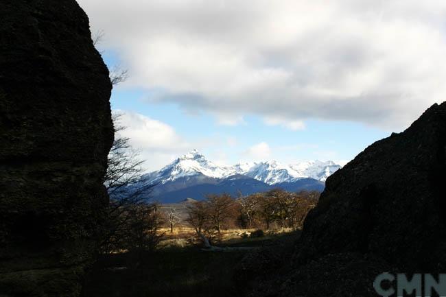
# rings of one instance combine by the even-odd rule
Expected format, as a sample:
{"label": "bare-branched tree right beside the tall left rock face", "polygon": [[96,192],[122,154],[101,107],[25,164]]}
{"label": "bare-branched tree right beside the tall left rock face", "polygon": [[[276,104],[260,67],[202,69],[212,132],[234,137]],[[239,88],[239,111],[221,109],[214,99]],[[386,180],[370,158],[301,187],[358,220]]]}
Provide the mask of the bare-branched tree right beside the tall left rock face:
{"label": "bare-branched tree right beside the tall left rock face", "polygon": [[[113,116],[115,132],[124,128],[118,125],[119,115]],[[153,221],[151,212],[156,213],[158,206],[150,204],[150,190],[152,185],[143,185],[139,182],[143,172],[143,161],[138,158],[138,152],[132,150],[129,139],[115,134],[113,147],[108,154],[108,168],[104,185],[110,196],[108,204],[102,252],[131,249],[130,243],[136,244],[134,248],[148,247],[150,244],[141,244],[141,240],[130,240],[130,235],[144,235],[146,241],[156,244],[159,238],[156,234],[159,224]],[[152,219],[149,219],[152,217]],[[161,220],[161,219],[159,219]],[[140,222],[138,222],[140,221]],[[156,221],[157,222],[157,221]],[[149,224],[150,223],[150,224]],[[144,226],[144,233],[133,230],[135,226]]]}

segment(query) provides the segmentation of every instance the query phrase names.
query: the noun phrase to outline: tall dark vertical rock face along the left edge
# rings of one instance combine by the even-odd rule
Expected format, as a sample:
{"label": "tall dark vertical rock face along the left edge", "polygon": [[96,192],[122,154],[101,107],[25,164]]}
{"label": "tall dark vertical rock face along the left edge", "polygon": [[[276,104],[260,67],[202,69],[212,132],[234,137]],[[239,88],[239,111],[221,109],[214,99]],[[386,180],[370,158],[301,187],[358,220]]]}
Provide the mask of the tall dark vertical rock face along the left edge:
{"label": "tall dark vertical rock face along the left edge", "polygon": [[78,296],[108,202],[110,91],[78,3],[1,1],[0,295]]}

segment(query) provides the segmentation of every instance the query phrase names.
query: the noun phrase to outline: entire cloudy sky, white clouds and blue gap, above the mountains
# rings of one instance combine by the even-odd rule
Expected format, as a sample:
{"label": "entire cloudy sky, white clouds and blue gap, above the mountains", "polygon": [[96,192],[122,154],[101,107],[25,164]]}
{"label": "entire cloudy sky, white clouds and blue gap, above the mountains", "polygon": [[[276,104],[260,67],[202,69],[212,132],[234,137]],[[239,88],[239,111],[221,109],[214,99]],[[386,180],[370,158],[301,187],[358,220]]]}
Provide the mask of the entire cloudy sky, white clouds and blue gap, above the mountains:
{"label": "entire cloudy sky, white clouds and blue gap, above the mountains", "polygon": [[446,100],[443,0],[78,0],[148,171],[335,161]]}

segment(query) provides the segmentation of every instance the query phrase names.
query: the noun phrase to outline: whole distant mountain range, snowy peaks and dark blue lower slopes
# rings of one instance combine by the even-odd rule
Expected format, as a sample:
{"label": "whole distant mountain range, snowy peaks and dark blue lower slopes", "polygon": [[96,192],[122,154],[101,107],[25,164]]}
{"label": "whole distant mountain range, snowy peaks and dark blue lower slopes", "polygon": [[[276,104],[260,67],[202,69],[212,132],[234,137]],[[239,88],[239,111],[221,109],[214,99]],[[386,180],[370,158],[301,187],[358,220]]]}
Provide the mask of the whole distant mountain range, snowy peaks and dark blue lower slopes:
{"label": "whole distant mountain range, snowy peaks and dark blue lower slopes", "polygon": [[338,169],[340,165],[332,161],[290,165],[265,161],[220,166],[193,150],[159,171],[144,174],[132,187],[154,185],[151,198],[161,203],[175,203],[186,198],[202,200],[209,193],[249,195],[274,188],[322,191],[325,180]]}

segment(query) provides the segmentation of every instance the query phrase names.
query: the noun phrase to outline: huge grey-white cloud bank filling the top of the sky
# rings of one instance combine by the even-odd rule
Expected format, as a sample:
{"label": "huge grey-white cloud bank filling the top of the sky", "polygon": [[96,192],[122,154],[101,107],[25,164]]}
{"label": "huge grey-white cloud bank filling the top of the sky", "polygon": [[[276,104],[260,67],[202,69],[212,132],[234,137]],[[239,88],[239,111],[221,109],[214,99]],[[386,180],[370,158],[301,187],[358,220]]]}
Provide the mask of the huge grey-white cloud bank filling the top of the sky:
{"label": "huge grey-white cloud bank filling the top of the sky", "polygon": [[446,99],[443,0],[79,2],[128,64],[128,86],[221,123],[255,114],[288,128],[319,118],[399,130]]}

